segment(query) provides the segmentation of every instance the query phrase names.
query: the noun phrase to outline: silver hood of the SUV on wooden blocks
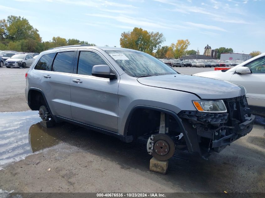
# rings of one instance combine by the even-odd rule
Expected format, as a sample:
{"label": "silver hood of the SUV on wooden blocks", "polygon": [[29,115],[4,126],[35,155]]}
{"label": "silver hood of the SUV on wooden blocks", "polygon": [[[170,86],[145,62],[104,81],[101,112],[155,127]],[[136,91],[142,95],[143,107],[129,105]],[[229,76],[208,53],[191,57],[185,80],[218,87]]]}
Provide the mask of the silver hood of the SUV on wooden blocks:
{"label": "silver hood of the SUV on wooden blocks", "polygon": [[193,93],[201,99],[226,99],[245,94],[243,87],[233,83],[184,74],[150,76],[137,80],[141,84],[152,87]]}

